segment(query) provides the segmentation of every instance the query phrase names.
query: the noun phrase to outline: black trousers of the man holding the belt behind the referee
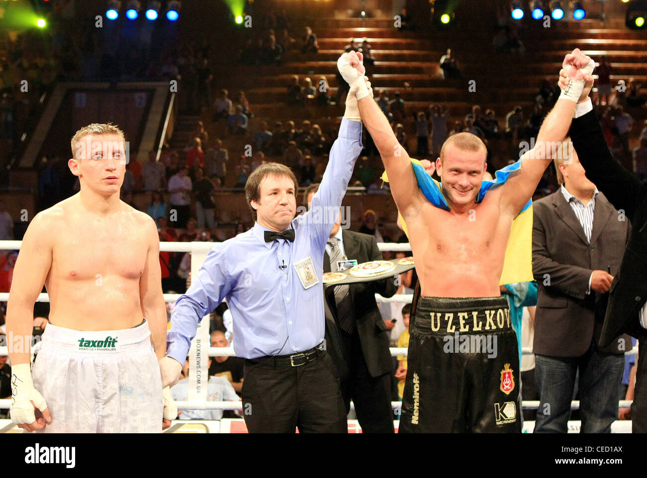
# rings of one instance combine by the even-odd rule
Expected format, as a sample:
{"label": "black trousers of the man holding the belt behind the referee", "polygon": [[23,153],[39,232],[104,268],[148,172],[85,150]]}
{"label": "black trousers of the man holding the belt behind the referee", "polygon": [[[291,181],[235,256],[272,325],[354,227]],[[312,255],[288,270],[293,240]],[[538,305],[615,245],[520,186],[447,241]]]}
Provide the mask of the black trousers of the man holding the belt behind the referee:
{"label": "black trousers of the man holding the belt behind the referee", "polygon": [[[352,334],[342,331],[348,357],[348,377],[342,382],[342,397],[346,415],[351,410],[351,399],[363,433],[394,433],[391,408],[391,374],[371,377],[362,353],[357,329]],[[344,416],[344,423],[346,417]]]}

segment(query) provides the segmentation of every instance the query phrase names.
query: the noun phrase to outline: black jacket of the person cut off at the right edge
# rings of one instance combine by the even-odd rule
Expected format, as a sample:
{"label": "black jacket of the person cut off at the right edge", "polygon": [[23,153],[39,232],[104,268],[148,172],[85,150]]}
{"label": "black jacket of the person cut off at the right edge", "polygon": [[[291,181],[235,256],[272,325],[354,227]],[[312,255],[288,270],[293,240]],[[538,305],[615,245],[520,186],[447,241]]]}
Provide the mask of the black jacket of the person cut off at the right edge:
{"label": "black jacket of the person cut off at the right edge", "polygon": [[[595,111],[575,118],[570,134],[586,177],[633,226],[620,270],[611,283],[600,345],[609,344],[620,332],[647,338],[647,330],[639,323],[639,311],[647,302],[647,184],[615,161]],[[623,245],[618,241],[612,247],[622,249]]]}

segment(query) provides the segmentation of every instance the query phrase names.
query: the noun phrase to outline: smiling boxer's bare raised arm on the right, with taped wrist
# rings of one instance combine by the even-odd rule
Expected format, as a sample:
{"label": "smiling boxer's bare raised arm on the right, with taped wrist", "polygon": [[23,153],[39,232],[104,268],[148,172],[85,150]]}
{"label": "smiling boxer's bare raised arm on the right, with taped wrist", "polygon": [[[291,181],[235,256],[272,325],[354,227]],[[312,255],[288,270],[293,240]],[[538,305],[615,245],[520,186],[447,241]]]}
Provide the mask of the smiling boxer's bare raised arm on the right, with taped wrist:
{"label": "smiling boxer's bare raised arm on the right, with taped wrist", "polygon": [[575,104],[584,89],[585,77],[593,72],[593,65],[593,60],[578,48],[564,57],[562,66],[569,72],[569,88],[562,92],[551,112],[544,118],[534,148],[521,156],[520,171],[512,174],[502,186],[503,212],[514,217],[532,198],[543,172],[553,161],[559,145],[568,133]]}

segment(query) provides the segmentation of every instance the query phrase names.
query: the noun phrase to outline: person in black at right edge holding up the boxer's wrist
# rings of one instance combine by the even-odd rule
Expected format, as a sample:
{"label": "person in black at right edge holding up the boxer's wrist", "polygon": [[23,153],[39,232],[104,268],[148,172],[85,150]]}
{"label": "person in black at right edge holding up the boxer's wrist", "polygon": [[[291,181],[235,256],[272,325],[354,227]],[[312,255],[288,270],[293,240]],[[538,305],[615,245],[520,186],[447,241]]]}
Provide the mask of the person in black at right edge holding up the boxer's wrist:
{"label": "person in black at right edge holding up the boxer's wrist", "polygon": [[[566,72],[560,72],[560,87],[565,88]],[[631,404],[633,433],[647,432],[647,183],[638,180],[615,161],[604,140],[586,87],[575,109],[571,140],[578,152],[586,176],[598,185],[622,217],[633,225],[622,264],[609,291],[609,304],[600,335],[600,346],[613,342],[619,333],[639,339],[636,383]],[[618,240],[612,247],[622,249]]]}

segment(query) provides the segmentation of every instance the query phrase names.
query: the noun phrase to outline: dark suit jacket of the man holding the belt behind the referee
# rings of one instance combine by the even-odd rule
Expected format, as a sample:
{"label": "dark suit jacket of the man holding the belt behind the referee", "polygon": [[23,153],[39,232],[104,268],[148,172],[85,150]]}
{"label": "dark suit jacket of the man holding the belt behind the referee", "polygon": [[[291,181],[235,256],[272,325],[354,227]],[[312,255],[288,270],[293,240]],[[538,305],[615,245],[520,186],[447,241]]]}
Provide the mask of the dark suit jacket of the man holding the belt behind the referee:
{"label": "dark suit jacket of the man holding the belt behind the referee", "polygon": [[[382,260],[382,253],[377,247],[375,236],[369,234],[355,233],[344,229],[342,231],[342,241],[344,242],[344,252],[349,260],[355,259],[358,264],[369,260]],[[323,271],[330,272],[330,258],[328,253],[323,256]],[[384,297],[391,297],[397,292],[395,280],[392,278],[376,280],[373,282],[362,282],[360,284],[351,284],[349,293],[353,300],[353,309],[355,310],[355,321],[362,353],[371,377],[378,377],[384,373],[393,370],[393,361],[391,360],[391,351],[389,350],[389,330],[384,325],[382,315],[377,308],[375,293]],[[337,307],[334,300],[334,287],[328,287],[325,295],[327,307],[333,317],[336,317]],[[326,333],[330,340],[328,349],[331,351],[333,360],[338,369],[340,379],[344,380],[347,374],[347,364],[340,364],[340,360],[347,359],[346,351],[343,350],[343,342],[338,334],[338,327],[331,329],[330,320],[326,320]],[[345,371],[345,373],[344,373]]]}

